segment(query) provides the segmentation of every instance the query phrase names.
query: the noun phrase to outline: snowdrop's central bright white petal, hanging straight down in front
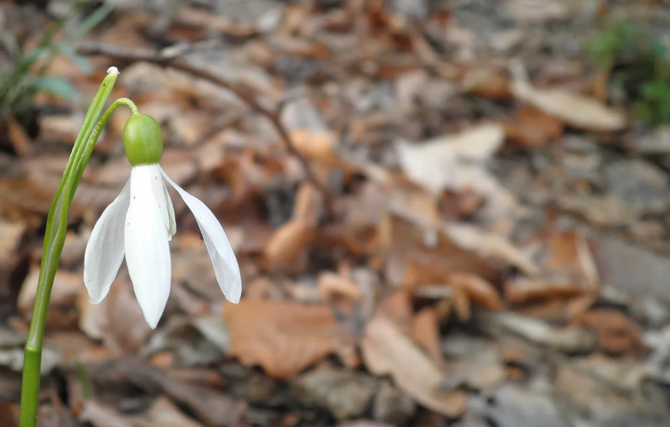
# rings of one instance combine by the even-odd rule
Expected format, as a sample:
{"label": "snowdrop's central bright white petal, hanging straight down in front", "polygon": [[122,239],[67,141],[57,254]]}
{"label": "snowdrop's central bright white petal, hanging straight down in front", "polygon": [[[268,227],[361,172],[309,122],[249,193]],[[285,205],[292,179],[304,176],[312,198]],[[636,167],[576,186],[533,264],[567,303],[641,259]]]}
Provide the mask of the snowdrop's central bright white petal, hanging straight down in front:
{"label": "snowdrop's central bright white petal, hanging straight down in front", "polygon": [[130,206],[125,218],[125,251],[135,296],[149,326],[158,324],[170,294],[170,247],[161,209],[153,197],[149,165],[130,176]]}

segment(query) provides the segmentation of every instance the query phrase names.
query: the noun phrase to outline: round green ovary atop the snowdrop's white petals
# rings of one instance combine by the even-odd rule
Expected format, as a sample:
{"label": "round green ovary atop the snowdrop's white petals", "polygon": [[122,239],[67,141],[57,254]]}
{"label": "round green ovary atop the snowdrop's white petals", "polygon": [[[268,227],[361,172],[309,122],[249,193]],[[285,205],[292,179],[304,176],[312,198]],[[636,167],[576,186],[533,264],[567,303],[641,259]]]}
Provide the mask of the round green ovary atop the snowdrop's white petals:
{"label": "round green ovary atop the snowdrop's white petals", "polygon": [[123,126],[123,148],[133,166],[158,163],[163,155],[161,126],[147,114],[133,114]]}

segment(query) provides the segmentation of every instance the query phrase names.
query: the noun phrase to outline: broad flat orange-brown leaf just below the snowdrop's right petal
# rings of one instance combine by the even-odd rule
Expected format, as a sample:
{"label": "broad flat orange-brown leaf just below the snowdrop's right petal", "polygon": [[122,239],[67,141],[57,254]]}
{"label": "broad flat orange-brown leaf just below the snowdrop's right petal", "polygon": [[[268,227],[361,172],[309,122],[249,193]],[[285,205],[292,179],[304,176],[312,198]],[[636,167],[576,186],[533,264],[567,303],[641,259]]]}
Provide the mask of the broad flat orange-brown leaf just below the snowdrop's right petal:
{"label": "broad flat orange-brown leaf just below the snowdrop's right petal", "polygon": [[289,379],[322,357],[338,353],[348,337],[326,305],[249,300],[224,304],[230,356]]}

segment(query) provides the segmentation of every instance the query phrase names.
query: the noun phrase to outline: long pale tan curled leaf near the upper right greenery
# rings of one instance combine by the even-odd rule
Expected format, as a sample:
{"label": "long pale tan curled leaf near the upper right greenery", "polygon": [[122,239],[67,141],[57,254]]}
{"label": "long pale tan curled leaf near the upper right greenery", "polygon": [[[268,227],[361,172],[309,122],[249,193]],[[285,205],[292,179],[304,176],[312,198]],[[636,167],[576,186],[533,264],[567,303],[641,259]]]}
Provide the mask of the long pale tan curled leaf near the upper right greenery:
{"label": "long pale tan curled leaf near the upper right greenery", "polygon": [[623,114],[594,98],[578,93],[534,88],[523,79],[513,82],[512,93],[545,113],[580,129],[620,131],[626,127],[626,117]]}

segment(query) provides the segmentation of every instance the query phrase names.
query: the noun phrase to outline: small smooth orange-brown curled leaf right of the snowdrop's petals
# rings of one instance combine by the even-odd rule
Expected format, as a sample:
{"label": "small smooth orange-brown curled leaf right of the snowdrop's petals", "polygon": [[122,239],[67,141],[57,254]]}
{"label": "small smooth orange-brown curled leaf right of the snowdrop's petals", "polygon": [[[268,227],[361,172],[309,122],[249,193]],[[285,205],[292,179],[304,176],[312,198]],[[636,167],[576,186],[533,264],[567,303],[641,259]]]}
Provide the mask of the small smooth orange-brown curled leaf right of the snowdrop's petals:
{"label": "small smooth orange-brown curled leaf right of the snowdrop's petals", "polygon": [[290,220],[276,230],[265,246],[265,259],[268,267],[287,268],[305,253],[310,242],[316,236],[314,224],[304,220]]}

